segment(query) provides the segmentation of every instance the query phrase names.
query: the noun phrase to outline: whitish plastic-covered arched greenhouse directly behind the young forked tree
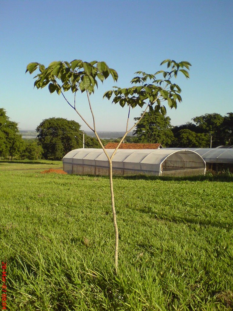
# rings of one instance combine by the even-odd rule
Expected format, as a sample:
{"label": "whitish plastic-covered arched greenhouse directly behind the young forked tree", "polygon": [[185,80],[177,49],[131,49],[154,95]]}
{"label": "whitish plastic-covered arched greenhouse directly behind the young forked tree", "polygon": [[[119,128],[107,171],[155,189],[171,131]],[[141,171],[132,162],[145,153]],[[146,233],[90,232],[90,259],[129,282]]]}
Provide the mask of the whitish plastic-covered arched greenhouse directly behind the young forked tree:
{"label": "whitish plastic-covered arched greenhouse directly behind the young forked tree", "polygon": [[[109,156],[114,149],[107,149]],[[108,175],[109,163],[102,149],[75,149],[66,154],[68,174]],[[113,175],[189,176],[205,174],[205,161],[190,150],[118,149],[112,160]]]}

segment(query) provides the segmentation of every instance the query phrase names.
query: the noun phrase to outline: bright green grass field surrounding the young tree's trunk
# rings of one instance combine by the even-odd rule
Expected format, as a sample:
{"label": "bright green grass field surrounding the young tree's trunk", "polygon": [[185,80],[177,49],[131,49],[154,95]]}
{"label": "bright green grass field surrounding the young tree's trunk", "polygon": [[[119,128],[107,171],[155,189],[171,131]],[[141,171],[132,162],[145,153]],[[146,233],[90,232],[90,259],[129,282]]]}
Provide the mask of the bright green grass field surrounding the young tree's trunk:
{"label": "bright green grass field surrounding the young tree's trunk", "polygon": [[7,310],[232,310],[232,176],[115,177],[114,276],[107,177],[38,162],[0,162]]}

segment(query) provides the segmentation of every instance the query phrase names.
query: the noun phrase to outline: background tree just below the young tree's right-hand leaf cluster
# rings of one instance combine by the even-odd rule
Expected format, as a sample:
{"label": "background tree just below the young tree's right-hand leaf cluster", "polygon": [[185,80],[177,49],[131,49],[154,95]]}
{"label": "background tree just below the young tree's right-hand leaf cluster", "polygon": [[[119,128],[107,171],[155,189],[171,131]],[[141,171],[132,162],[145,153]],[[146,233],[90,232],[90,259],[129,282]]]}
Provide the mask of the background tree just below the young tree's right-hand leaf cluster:
{"label": "background tree just below the young tree's right-hand leaf cluster", "polygon": [[[140,117],[134,118],[134,120],[138,121]],[[171,131],[171,119],[154,110],[148,111],[136,125],[133,135],[137,135],[135,142],[161,143],[162,146],[169,147],[174,139]]]}

